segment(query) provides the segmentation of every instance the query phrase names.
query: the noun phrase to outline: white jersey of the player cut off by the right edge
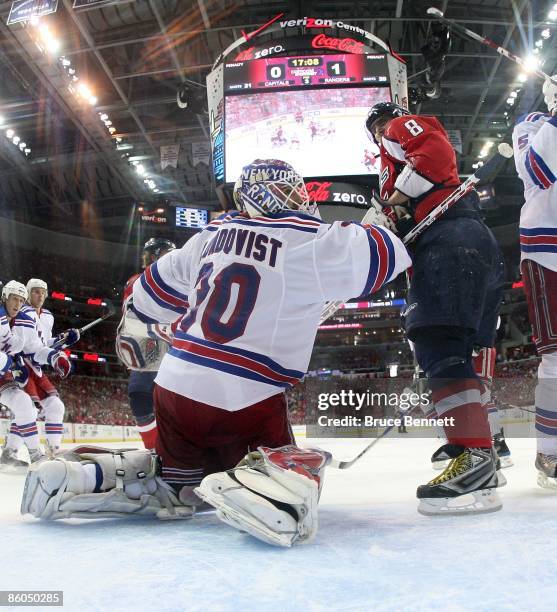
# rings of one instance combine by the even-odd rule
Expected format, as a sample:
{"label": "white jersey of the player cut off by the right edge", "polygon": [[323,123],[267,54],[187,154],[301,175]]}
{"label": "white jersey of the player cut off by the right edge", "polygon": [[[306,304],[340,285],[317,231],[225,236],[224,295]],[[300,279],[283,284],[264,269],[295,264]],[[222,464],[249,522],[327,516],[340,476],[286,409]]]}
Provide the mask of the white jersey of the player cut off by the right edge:
{"label": "white jersey of the player cut off by the right edge", "polygon": [[522,259],[557,271],[557,117],[530,113],[513,130],[514,159],[524,183]]}

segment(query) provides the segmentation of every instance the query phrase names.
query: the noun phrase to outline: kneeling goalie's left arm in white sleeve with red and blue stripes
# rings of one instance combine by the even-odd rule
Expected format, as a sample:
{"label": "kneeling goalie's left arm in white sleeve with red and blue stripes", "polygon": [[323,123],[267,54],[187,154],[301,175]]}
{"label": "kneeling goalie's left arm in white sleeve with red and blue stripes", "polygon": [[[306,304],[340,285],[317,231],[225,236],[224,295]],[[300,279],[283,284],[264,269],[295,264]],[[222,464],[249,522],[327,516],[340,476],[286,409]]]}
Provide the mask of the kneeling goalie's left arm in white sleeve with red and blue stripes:
{"label": "kneeling goalie's left arm in white sleeve with red and blue stripes", "polygon": [[134,282],[129,308],[143,323],[171,324],[188,309],[195,238],[151,264]]}

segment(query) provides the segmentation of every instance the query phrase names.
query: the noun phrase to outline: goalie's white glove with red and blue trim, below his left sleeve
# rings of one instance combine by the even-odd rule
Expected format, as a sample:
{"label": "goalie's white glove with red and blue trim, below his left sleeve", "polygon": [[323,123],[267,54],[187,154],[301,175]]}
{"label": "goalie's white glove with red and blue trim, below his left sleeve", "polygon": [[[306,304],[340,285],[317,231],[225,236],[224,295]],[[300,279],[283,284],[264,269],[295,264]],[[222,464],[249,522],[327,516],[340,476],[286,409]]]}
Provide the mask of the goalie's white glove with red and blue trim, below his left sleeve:
{"label": "goalie's white glove with red and blue trim, below his left sleeve", "polygon": [[130,296],[116,332],[116,354],[130,370],[156,372],[172,342],[172,332],[167,325],[143,323],[131,305]]}

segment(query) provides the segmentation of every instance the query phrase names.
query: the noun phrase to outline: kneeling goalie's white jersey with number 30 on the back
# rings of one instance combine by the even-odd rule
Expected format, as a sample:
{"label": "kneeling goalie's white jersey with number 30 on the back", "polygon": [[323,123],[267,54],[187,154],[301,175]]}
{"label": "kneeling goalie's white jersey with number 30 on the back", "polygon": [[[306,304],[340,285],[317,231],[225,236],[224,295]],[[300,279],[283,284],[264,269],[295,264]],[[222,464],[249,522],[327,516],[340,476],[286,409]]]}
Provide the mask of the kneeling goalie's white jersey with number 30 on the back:
{"label": "kneeling goalie's white jersey with number 30 on the back", "polygon": [[230,213],[147,268],[133,309],[145,322],[181,317],[157,384],[234,411],[305,375],[325,302],[373,293],[410,263],[382,227]]}

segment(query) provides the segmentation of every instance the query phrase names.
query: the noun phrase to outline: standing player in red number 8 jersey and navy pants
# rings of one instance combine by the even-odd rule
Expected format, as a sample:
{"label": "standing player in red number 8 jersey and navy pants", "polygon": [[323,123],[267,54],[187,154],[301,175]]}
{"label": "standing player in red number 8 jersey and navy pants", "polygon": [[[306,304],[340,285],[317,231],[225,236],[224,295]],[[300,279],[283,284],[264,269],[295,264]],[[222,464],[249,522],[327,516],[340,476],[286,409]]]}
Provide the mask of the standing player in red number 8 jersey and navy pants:
{"label": "standing player in red number 8 jersey and navy pants", "polygon": [[[371,109],[366,128],[380,146],[381,203],[404,236],[460,184],[454,150],[435,117],[411,115],[390,102]],[[504,264],[479,217],[477,193],[471,189],[433,223],[411,255],[405,329],[437,414],[446,418],[443,451],[451,460],[418,488],[418,510],[498,510],[497,459],[472,357],[476,346],[494,344]]]}

